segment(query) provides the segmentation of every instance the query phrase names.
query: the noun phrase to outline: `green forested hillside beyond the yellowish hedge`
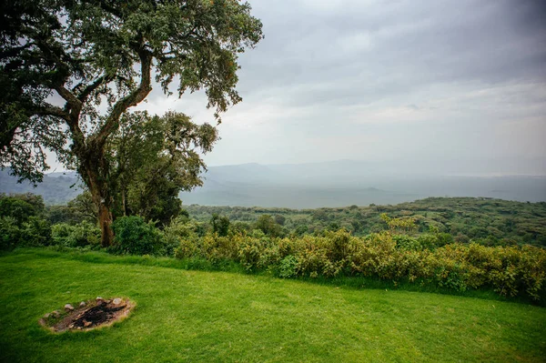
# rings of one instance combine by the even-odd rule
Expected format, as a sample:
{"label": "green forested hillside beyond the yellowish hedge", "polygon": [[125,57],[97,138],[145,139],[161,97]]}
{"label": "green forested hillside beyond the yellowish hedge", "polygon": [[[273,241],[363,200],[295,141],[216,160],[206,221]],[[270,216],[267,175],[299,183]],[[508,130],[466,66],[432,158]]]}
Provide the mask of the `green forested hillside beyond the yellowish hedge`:
{"label": "green forested hillside beyond the yellowish hedge", "polygon": [[[285,217],[287,234],[320,235],[343,227],[356,236],[390,230],[393,234],[433,235],[438,246],[470,243],[489,246],[532,244],[546,247],[546,203],[520,203],[491,198],[431,197],[396,206],[339,207],[295,210],[264,207],[189,206],[199,221],[213,213],[229,217],[231,223],[256,223],[264,215]],[[389,225],[390,222],[390,225]],[[441,237],[440,237],[441,235]],[[442,239],[442,241],[438,239]],[[438,240],[438,241],[437,241]],[[428,246],[426,241],[425,246]]]}

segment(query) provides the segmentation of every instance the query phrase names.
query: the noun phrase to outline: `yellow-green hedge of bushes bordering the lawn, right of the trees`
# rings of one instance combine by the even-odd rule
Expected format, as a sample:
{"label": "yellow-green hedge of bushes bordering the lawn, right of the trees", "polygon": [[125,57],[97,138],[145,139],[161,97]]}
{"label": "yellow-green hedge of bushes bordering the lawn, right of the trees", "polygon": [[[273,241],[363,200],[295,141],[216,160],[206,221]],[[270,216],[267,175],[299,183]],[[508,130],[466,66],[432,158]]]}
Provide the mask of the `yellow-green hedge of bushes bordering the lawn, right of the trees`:
{"label": "yellow-green hedge of bushes bordering the lawn, right of the trees", "polygon": [[544,249],[444,242],[442,234],[353,237],[342,230],[293,238],[208,234],[182,238],[176,256],[236,261],[249,271],[267,269],[278,277],[379,277],[456,291],[490,287],[502,296],[544,299]]}

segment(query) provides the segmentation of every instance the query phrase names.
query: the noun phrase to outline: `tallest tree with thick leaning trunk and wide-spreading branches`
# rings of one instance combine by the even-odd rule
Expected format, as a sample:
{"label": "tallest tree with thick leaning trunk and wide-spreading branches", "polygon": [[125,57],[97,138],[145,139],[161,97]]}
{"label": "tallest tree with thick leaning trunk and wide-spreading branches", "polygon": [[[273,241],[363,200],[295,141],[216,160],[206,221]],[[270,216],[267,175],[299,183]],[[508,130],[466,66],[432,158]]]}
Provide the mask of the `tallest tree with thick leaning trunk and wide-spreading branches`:
{"label": "tallest tree with thick leaning trunk and wide-spreading branches", "polygon": [[219,114],[238,103],[238,54],[263,37],[237,0],[7,0],[0,5],[0,162],[39,180],[45,150],[73,166],[113,241],[106,155],[152,77],[178,96],[204,88]]}

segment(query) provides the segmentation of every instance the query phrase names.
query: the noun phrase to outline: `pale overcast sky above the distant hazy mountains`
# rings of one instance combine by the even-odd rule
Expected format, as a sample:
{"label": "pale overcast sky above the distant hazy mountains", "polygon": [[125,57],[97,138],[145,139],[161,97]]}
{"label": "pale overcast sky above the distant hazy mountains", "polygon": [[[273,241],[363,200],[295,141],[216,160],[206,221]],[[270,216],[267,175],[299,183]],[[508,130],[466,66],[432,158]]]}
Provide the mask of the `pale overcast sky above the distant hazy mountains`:
{"label": "pale overcast sky above the distant hazy mountains", "polygon": [[[250,4],[266,37],[240,57],[243,102],[223,116],[209,166],[355,159],[546,174],[540,0]],[[206,104],[156,87],[138,108],[213,122]]]}

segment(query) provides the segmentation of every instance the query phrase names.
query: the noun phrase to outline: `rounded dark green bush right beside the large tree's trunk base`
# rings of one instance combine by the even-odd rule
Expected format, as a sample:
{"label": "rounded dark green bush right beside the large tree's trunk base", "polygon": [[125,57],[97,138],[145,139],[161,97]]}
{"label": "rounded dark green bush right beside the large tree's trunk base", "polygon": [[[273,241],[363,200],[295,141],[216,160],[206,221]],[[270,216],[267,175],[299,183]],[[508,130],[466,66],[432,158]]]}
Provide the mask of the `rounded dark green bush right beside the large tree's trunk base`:
{"label": "rounded dark green bush right beside the large tree's trunk base", "polygon": [[164,240],[159,230],[151,222],[141,217],[119,217],[112,225],[116,233],[116,244],[110,251],[128,255],[161,255],[164,253]]}

